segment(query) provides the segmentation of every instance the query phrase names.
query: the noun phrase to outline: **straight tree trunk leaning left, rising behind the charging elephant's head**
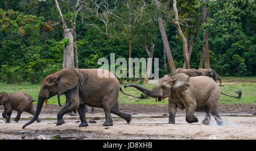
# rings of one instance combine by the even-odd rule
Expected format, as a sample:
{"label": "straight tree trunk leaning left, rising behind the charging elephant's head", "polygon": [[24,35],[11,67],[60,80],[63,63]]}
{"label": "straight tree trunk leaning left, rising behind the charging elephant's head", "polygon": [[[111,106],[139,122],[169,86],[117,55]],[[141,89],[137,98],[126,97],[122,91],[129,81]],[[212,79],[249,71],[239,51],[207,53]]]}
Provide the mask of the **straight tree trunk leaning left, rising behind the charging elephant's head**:
{"label": "straight tree trunk leaning left, rising behind the charging elephant's head", "polygon": [[[159,7],[159,1],[155,0],[155,3],[156,3],[156,6]],[[169,64],[170,69],[171,69],[171,74],[173,74],[176,67],[175,67],[175,64],[174,64],[174,59],[172,58],[172,53],[171,53],[171,49],[170,49],[170,46],[169,46],[169,43],[168,43],[166,30],[164,30],[164,24],[163,24],[163,18],[162,17],[158,17],[158,24],[159,24],[160,33],[161,33],[162,40],[163,40],[164,51],[166,51],[166,56],[167,56],[168,64]]]}

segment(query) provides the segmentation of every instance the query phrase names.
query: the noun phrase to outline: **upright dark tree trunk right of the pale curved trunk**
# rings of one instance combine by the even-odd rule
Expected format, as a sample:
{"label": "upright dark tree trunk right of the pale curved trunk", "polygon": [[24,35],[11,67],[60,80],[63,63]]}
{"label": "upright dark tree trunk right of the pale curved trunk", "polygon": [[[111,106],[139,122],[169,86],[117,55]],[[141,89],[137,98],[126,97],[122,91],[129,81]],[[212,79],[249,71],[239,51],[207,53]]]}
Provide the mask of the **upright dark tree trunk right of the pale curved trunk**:
{"label": "upright dark tree trunk right of the pale curved trunk", "polygon": [[[208,0],[204,0],[204,2],[207,2]],[[204,17],[207,19],[209,18],[207,7],[204,8]],[[207,20],[205,20],[205,23],[208,23]],[[209,44],[208,44],[208,31],[204,30],[204,44],[203,44],[203,51],[204,51],[204,68],[210,69],[210,58],[209,58]]]}

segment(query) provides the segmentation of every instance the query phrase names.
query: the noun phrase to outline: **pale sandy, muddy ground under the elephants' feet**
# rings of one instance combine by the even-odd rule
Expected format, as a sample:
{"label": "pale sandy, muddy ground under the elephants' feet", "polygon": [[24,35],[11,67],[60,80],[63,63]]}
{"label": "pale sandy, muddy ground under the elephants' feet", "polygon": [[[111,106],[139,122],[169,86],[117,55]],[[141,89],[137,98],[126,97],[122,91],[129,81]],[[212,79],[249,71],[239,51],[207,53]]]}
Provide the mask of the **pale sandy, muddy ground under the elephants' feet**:
{"label": "pale sandy, muddy ground under the elephants' feet", "polygon": [[[212,117],[210,125],[201,123],[204,113],[196,112],[199,123],[185,121],[184,110],[177,110],[176,124],[168,123],[167,105],[119,105],[121,110],[133,116],[131,123],[112,114],[113,126],[102,127],[105,114],[96,108],[95,114],[86,113],[88,127],[79,128],[79,116],[64,115],[65,124],[56,126],[57,112],[61,107],[49,105],[42,109],[40,123],[32,123],[25,129],[32,115],[24,112],[16,123],[5,123],[0,118],[0,139],[256,139],[256,104],[221,105],[219,112],[223,126]],[[3,107],[0,107],[2,113]],[[96,118],[97,117],[97,118]],[[96,119],[95,119],[96,118]],[[98,120],[100,118],[100,120]],[[90,123],[90,120],[93,123]]]}

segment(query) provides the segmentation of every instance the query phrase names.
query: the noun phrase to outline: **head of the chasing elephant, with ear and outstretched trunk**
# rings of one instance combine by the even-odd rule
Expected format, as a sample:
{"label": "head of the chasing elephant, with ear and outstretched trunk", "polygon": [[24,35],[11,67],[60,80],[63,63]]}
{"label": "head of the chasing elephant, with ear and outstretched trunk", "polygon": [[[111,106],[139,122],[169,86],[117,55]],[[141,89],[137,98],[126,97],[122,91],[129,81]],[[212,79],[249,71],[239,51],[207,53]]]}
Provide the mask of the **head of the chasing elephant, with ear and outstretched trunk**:
{"label": "head of the chasing elephant, with ear and outstretched trunk", "polygon": [[126,85],[125,87],[135,87],[142,91],[142,93],[160,101],[170,97],[172,93],[180,93],[181,91],[187,90],[190,85],[189,76],[184,73],[179,73],[172,77],[165,75],[163,78],[160,78],[152,90],[145,89],[135,84]]}

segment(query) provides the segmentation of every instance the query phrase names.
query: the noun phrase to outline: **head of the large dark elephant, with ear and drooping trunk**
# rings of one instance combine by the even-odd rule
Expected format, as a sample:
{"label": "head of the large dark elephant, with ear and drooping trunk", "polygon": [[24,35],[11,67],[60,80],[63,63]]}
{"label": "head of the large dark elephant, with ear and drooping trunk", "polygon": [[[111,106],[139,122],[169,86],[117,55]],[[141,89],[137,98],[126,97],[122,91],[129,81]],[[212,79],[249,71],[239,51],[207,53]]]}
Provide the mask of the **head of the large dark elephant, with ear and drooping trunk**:
{"label": "head of the large dark elephant, with ear and drooping trunk", "polygon": [[46,100],[47,107],[47,100],[49,98],[56,94],[64,94],[66,91],[73,89],[77,85],[78,80],[79,75],[71,68],[64,68],[59,72],[48,75],[44,79],[39,91],[38,106],[36,107],[35,115],[23,126],[23,128],[33,123],[38,118],[40,111],[42,110],[44,100]]}

